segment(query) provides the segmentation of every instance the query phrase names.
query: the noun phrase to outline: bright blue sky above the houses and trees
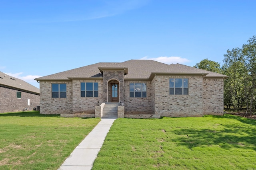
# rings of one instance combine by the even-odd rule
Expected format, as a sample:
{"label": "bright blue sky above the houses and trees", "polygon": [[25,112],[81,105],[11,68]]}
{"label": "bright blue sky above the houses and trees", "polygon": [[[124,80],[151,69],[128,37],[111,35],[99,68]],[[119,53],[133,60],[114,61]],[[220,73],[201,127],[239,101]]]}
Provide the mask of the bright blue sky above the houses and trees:
{"label": "bright blue sky above the houses and trees", "polygon": [[255,0],[0,0],[0,71],[25,80],[98,62],[222,64],[256,34]]}

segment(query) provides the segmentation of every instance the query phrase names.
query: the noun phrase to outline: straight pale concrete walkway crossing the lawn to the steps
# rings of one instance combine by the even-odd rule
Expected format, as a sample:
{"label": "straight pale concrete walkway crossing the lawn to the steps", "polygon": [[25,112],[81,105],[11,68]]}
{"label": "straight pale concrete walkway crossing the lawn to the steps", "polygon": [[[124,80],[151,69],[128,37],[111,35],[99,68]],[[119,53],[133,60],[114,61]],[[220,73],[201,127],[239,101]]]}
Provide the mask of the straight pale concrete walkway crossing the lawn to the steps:
{"label": "straight pale concrete walkway crossing the lawn to the steps", "polygon": [[90,170],[114,120],[101,119],[58,170]]}

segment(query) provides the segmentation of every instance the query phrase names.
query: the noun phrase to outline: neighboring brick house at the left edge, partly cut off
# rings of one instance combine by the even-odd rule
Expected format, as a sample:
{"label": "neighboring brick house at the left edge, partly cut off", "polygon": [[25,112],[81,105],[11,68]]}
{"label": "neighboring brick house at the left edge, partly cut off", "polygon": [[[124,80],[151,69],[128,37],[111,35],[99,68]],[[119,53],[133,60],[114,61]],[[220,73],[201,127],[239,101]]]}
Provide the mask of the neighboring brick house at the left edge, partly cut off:
{"label": "neighboring brick house at the left edge, partly cut off", "polygon": [[38,88],[0,72],[0,113],[33,110],[39,104]]}

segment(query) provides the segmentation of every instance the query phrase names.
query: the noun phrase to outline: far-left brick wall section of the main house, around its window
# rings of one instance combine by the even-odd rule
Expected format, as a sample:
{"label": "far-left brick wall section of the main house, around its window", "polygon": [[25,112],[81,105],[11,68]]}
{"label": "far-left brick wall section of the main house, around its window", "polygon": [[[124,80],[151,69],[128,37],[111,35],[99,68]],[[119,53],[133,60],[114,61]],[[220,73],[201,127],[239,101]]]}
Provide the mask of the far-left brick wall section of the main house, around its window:
{"label": "far-left brick wall section of the main house, around its window", "polygon": [[[52,83],[66,83],[66,98],[52,98]],[[72,113],[72,81],[40,81],[40,113]]]}

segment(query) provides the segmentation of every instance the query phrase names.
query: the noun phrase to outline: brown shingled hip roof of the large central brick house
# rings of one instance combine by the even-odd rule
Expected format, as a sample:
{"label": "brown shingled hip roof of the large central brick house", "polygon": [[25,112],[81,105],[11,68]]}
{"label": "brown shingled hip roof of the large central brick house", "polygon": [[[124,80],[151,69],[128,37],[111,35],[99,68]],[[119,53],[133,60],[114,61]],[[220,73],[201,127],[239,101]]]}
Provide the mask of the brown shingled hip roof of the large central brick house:
{"label": "brown shingled hip roof of the large central brick house", "polygon": [[129,60],[122,63],[96,63],[36,78],[35,80],[70,80],[70,78],[101,78],[102,69],[125,70],[124,79],[150,79],[154,74],[201,74],[206,77],[228,76],[182,64],[164,64],[153,60]]}

